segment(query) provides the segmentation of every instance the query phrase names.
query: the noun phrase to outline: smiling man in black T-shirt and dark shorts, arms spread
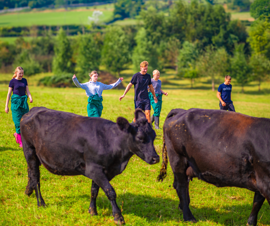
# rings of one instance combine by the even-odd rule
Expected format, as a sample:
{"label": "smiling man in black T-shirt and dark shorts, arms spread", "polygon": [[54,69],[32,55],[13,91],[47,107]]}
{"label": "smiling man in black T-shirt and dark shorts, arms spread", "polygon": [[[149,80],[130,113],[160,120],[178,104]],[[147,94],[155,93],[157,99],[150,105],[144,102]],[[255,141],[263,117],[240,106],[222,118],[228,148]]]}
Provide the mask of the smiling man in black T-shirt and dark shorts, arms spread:
{"label": "smiling man in black T-shirt and dark shorts, arms spread", "polygon": [[[145,116],[148,120],[149,123],[151,123],[151,117],[150,117],[150,111],[151,111],[151,103],[150,99],[148,96],[148,89],[147,87],[149,86],[149,89],[151,93],[153,94],[155,103],[157,103],[157,97],[151,82],[151,75],[147,74],[147,69],[148,69],[148,62],[143,61],[140,63],[140,72],[134,74],[132,76],[132,79],[128,86],[126,87],[126,90],[124,92],[124,95],[119,98],[119,100],[122,100],[126,93],[130,90],[132,85],[134,85],[135,89],[135,98],[134,98],[134,104],[135,104],[135,109],[140,108],[145,112]],[[135,118],[133,119],[133,122],[135,122]]]}

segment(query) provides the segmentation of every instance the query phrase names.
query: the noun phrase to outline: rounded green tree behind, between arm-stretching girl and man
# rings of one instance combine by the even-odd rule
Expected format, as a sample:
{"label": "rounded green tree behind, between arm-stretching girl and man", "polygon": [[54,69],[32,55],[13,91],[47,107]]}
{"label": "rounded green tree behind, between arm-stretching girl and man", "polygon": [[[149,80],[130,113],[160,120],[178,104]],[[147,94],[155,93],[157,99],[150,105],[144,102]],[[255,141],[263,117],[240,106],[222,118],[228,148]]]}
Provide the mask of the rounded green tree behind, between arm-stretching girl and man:
{"label": "rounded green tree behind, between arm-stretching girl and man", "polygon": [[121,27],[112,26],[105,34],[102,62],[109,71],[117,72],[119,76],[120,71],[130,62],[130,46],[127,40]]}

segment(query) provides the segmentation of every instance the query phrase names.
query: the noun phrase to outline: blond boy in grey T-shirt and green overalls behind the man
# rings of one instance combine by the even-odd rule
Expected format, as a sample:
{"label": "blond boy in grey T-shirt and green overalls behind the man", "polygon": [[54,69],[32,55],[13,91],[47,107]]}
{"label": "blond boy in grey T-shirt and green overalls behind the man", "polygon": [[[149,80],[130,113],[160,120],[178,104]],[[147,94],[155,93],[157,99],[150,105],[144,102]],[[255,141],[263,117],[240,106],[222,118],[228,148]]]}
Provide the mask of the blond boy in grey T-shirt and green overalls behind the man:
{"label": "blond boy in grey T-shirt and green overalls behind the man", "polygon": [[161,81],[159,80],[160,73],[158,70],[153,71],[153,78],[151,79],[152,85],[154,87],[154,91],[157,97],[157,103],[154,102],[154,98],[151,92],[148,93],[151,105],[154,110],[154,114],[151,116],[151,125],[155,121],[155,129],[160,129],[159,128],[159,116],[160,116],[160,111],[161,111],[161,105],[162,105],[162,94],[165,96],[168,95],[168,93],[165,93],[161,89]]}

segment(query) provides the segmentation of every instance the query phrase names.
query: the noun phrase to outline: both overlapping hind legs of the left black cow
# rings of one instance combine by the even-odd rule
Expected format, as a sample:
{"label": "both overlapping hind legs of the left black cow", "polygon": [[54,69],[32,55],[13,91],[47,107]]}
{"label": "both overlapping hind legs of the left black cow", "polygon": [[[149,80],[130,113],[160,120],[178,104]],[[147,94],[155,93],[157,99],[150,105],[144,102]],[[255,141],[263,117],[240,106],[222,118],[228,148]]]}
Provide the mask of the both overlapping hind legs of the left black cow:
{"label": "both overlapping hind legs of the left black cow", "polygon": [[36,150],[34,147],[31,147],[30,145],[28,145],[27,142],[24,141],[24,139],[22,139],[22,143],[23,143],[23,149],[24,149],[24,156],[27,162],[27,172],[28,172],[28,183],[26,186],[25,194],[30,196],[35,190],[37,205],[46,206],[40,193],[40,183],[39,183],[40,161],[36,155]]}

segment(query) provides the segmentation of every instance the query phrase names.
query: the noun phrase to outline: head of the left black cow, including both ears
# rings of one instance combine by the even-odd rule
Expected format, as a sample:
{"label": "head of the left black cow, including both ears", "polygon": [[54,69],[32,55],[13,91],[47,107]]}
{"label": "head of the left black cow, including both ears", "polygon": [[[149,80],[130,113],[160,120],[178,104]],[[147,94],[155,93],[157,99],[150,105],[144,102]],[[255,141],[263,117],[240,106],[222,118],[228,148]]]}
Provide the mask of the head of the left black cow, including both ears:
{"label": "head of the left black cow, including both ears", "polygon": [[157,155],[154,147],[154,139],[156,137],[155,131],[151,128],[151,125],[147,122],[145,114],[140,109],[135,110],[136,122],[134,126],[128,123],[125,118],[117,118],[117,124],[119,128],[127,133],[130,133],[128,139],[128,147],[130,151],[138,155],[142,160],[149,164],[155,164],[159,162],[159,156]]}

